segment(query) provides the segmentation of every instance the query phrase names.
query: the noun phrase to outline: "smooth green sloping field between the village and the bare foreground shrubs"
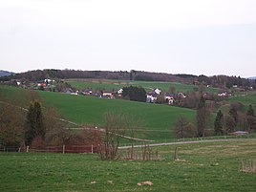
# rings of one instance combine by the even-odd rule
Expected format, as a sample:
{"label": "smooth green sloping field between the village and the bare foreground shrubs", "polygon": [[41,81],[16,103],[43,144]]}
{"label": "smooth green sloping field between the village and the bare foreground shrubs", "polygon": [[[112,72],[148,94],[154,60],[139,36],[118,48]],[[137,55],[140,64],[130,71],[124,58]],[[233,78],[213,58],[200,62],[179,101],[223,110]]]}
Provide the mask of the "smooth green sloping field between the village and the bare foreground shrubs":
{"label": "smooth green sloping field between the village and the bare foreground shrubs", "polygon": [[[22,89],[1,87],[0,93],[8,97],[18,96]],[[69,120],[82,124],[103,126],[106,112],[123,113],[139,120],[137,138],[165,140],[172,139],[171,127],[178,117],[195,119],[195,111],[151,103],[141,103],[128,100],[111,100],[92,96],[71,96],[66,94],[37,92],[44,100],[43,106],[54,106]],[[20,96],[19,99],[21,99]]]}

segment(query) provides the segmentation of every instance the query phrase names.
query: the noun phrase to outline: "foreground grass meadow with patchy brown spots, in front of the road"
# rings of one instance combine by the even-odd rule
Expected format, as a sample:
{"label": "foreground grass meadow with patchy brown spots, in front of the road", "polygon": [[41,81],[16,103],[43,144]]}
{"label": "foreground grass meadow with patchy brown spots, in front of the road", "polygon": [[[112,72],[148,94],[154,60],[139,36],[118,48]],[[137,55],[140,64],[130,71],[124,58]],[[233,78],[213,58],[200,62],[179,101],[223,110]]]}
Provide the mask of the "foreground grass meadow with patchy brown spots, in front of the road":
{"label": "foreground grass meadow with patchy brown spots, in front of the road", "polygon": [[[94,154],[0,153],[0,191],[255,191],[256,140],[158,147],[164,160],[97,160]],[[173,160],[175,147],[180,160]],[[156,149],[156,148],[155,148]],[[139,186],[138,182],[153,185]]]}

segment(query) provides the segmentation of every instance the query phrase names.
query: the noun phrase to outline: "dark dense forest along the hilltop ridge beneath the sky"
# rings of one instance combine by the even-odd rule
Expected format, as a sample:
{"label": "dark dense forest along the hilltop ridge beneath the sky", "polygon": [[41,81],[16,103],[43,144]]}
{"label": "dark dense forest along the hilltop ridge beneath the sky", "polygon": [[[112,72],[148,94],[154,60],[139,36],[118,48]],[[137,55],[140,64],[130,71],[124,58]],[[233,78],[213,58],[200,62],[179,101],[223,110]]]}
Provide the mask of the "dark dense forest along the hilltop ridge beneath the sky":
{"label": "dark dense forest along the hilltop ridge beneath the sky", "polygon": [[10,81],[12,79],[38,81],[45,78],[101,78],[117,80],[145,80],[145,81],[170,81],[182,82],[196,85],[210,85],[217,88],[241,87],[245,90],[256,89],[256,79],[242,78],[240,76],[227,75],[171,75],[166,73],[152,73],[131,70],[127,71],[81,71],[81,70],[35,70],[16,75],[2,76],[0,81]]}

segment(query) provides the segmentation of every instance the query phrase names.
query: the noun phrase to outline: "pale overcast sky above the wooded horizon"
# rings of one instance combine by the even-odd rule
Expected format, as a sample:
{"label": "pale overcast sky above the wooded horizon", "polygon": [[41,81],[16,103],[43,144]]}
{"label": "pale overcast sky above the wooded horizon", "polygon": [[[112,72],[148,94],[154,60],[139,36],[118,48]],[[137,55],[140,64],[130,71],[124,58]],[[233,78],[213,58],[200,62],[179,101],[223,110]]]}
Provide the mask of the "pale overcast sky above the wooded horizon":
{"label": "pale overcast sky above the wooded horizon", "polygon": [[255,0],[0,0],[0,70],[256,75]]}

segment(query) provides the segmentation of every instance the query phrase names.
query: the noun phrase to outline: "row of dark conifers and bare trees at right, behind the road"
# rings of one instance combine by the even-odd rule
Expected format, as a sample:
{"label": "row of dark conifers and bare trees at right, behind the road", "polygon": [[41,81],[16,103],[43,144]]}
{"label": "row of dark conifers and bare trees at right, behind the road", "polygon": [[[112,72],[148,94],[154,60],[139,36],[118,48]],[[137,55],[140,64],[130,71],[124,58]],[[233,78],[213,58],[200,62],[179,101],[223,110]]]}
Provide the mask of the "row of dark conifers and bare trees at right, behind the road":
{"label": "row of dark conifers and bare trees at right, behind the road", "polygon": [[224,136],[235,131],[255,132],[256,117],[252,105],[248,106],[245,113],[242,108],[241,103],[231,103],[226,114],[218,110],[212,121],[213,114],[205,105],[204,96],[201,96],[196,109],[196,122],[180,117],[172,132],[177,138]]}

